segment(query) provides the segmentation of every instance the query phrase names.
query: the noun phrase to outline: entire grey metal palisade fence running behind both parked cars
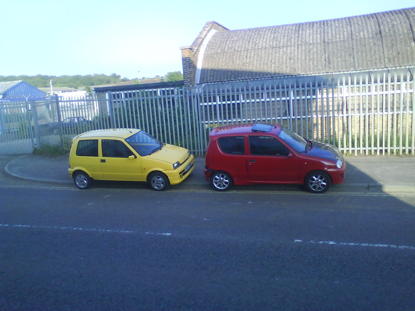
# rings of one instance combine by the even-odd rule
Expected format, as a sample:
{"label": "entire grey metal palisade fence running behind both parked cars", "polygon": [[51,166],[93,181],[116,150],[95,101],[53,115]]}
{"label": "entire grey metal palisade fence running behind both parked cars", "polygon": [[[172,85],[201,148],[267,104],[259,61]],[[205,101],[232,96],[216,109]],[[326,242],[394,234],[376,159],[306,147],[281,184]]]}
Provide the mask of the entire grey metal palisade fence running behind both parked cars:
{"label": "entire grey metal palisade fence running behind both parked cars", "polygon": [[400,70],[0,100],[0,154],[67,149],[84,131],[127,127],[200,156],[216,126],[265,122],[345,154],[413,155],[413,90],[410,70]]}

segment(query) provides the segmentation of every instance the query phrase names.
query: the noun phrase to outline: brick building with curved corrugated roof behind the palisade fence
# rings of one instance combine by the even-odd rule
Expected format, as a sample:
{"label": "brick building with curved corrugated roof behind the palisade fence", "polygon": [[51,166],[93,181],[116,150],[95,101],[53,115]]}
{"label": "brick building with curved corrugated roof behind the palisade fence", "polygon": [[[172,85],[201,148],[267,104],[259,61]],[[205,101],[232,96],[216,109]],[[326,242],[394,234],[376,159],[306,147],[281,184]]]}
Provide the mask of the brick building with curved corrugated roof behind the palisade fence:
{"label": "brick building with curved corrugated roof behind the palisade fence", "polygon": [[408,146],[414,29],[415,7],[237,30],[211,21],[181,47],[184,85],[206,127],[279,123],[355,153]]}

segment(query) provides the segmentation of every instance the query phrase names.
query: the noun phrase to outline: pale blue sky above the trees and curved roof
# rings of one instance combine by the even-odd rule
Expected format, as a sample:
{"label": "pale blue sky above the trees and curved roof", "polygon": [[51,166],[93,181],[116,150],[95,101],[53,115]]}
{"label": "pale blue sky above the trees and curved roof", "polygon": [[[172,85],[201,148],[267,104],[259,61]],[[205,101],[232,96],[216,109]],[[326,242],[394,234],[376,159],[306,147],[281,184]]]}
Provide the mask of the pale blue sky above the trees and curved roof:
{"label": "pale blue sky above the trees and curved roof", "polygon": [[0,75],[154,77],[182,71],[179,47],[191,45],[210,20],[244,29],[414,5],[413,0],[9,0],[1,4]]}

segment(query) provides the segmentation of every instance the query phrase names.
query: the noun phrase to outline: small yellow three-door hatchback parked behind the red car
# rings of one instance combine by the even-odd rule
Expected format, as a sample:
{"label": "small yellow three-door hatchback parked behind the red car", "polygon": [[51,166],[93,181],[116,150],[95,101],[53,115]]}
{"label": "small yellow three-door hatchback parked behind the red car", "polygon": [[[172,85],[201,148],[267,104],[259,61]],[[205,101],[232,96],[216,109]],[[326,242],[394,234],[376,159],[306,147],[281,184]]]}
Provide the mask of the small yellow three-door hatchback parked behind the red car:
{"label": "small yellow three-door hatchback parked behind the red car", "polygon": [[140,129],[100,129],[73,138],[68,173],[79,189],[88,189],[93,180],[127,180],[163,191],[185,180],[194,163],[187,149]]}

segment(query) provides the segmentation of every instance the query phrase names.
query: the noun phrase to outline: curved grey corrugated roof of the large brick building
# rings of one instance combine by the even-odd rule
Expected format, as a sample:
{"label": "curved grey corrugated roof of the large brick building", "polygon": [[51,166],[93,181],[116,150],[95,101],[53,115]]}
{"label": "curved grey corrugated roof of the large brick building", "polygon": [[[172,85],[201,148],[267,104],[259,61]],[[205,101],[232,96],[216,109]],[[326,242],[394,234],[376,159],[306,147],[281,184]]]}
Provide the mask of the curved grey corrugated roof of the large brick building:
{"label": "curved grey corrugated roof of the large brick building", "polygon": [[415,7],[216,32],[203,55],[199,83],[413,65]]}

